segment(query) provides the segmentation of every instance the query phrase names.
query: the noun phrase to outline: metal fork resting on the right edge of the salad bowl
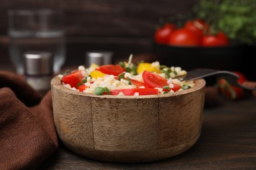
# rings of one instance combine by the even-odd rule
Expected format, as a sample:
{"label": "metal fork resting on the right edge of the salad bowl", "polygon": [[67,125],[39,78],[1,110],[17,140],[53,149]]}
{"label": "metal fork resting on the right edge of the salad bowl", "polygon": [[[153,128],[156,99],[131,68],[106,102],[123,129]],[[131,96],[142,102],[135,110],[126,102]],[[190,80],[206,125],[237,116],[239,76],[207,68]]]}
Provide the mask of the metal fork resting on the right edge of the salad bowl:
{"label": "metal fork resting on the right edge of the salad bowl", "polygon": [[240,78],[236,73],[232,73],[231,71],[220,71],[217,69],[194,69],[187,72],[187,75],[178,76],[181,81],[191,81],[199,78],[204,78],[207,76],[216,75],[219,78],[225,78],[230,84],[237,86],[239,88],[244,88],[245,90],[256,90],[256,88],[251,88],[244,86],[238,82]]}

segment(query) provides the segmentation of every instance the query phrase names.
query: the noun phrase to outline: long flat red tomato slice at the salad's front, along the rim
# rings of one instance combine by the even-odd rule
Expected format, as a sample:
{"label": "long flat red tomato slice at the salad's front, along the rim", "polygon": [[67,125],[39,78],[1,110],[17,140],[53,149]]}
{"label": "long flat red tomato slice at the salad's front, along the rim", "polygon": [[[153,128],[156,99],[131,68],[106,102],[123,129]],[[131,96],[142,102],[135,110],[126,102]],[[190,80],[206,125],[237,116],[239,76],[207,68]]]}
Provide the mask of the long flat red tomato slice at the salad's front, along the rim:
{"label": "long flat red tomato slice at the salad's front, along the rim", "polygon": [[118,95],[122,92],[124,95],[134,95],[135,93],[139,93],[139,95],[152,95],[158,94],[158,90],[154,88],[129,88],[129,89],[116,89],[111,90],[111,95]]}

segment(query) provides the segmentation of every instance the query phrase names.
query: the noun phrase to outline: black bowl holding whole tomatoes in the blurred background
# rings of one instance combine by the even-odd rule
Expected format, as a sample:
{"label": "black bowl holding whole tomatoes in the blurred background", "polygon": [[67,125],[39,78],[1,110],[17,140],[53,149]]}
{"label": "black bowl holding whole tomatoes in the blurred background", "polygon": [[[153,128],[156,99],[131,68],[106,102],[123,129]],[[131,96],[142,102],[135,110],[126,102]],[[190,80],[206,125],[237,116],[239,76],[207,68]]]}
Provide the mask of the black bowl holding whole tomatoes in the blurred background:
{"label": "black bowl holding whole tomatoes in the blurred background", "polygon": [[[171,46],[154,44],[154,53],[160,63],[179,66],[187,71],[197,68],[240,71],[253,80],[256,78],[255,48],[236,42],[229,46]],[[255,54],[253,60],[249,60]],[[250,62],[251,61],[251,62]]]}

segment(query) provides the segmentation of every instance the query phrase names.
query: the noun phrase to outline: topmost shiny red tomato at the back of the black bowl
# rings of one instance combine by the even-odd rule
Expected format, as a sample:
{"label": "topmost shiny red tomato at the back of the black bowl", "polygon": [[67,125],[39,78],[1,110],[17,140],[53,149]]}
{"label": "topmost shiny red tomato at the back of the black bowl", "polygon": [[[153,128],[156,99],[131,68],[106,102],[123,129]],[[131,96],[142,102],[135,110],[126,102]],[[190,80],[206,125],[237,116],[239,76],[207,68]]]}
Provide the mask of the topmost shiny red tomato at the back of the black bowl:
{"label": "topmost shiny red tomato at the back of the black bowl", "polygon": [[200,37],[203,37],[204,33],[207,33],[209,31],[209,25],[205,24],[205,22],[198,18],[193,21],[187,21],[184,27],[186,29],[190,29],[194,33],[198,34]]}

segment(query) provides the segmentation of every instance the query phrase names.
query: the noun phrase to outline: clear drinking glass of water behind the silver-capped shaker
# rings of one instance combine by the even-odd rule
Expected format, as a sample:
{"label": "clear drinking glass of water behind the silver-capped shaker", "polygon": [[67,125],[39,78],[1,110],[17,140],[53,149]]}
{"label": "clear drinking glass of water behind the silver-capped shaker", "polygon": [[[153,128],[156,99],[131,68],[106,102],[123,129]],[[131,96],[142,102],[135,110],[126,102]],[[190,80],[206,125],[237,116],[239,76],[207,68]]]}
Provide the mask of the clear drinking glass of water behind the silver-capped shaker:
{"label": "clear drinking glass of water behind the silver-capped shaker", "polygon": [[9,10],[11,39],[9,55],[16,73],[24,74],[23,56],[28,51],[47,51],[53,54],[53,71],[58,73],[66,61],[64,14],[62,10]]}

